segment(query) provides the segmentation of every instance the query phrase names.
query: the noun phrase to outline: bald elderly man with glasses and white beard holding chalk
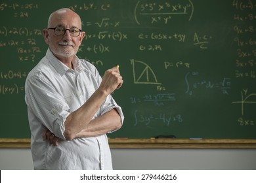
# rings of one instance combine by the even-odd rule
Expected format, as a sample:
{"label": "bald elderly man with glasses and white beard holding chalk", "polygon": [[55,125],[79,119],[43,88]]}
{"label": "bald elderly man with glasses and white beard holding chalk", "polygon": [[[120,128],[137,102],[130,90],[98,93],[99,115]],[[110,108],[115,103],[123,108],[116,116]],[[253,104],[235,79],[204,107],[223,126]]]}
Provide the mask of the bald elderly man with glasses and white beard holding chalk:
{"label": "bald elderly man with glasses and white beard holding chalk", "polygon": [[34,168],[112,169],[106,133],[123,124],[121,107],[110,95],[123,84],[119,68],[101,78],[77,58],[85,32],[68,8],[49,16],[43,37],[49,49],[25,84]]}

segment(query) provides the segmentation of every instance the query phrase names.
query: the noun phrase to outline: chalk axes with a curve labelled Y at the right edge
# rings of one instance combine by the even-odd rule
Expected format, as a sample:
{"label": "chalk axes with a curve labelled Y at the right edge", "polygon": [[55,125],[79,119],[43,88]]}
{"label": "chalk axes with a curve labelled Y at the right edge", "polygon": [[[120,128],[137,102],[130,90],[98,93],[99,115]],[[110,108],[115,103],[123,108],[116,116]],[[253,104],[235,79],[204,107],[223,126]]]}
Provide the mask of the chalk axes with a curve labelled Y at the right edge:
{"label": "chalk axes with a curve labelled Y at the right edge", "polygon": [[243,89],[240,93],[241,100],[233,101],[232,103],[241,105],[241,114],[244,116],[245,105],[249,108],[249,105],[256,104],[256,93],[249,93],[248,89]]}

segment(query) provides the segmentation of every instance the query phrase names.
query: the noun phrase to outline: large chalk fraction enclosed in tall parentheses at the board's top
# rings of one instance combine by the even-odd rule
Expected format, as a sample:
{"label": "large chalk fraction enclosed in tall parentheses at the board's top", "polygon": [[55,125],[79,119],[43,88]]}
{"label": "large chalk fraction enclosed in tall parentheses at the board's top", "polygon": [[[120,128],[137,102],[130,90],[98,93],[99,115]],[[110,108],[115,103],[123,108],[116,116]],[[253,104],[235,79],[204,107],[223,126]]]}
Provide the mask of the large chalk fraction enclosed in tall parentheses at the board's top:
{"label": "large chalk fraction enclosed in tall parentheses at the board's top", "polygon": [[194,5],[192,1],[173,2],[144,2],[138,1],[135,6],[134,16],[138,25],[145,22],[145,19],[150,24],[169,24],[175,16],[184,16],[188,21],[192,19],[194,13]]}

